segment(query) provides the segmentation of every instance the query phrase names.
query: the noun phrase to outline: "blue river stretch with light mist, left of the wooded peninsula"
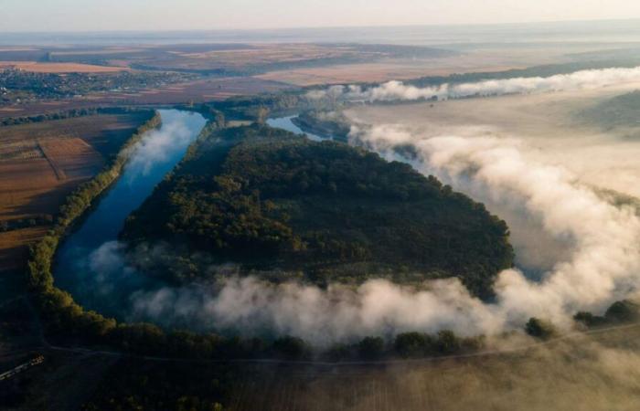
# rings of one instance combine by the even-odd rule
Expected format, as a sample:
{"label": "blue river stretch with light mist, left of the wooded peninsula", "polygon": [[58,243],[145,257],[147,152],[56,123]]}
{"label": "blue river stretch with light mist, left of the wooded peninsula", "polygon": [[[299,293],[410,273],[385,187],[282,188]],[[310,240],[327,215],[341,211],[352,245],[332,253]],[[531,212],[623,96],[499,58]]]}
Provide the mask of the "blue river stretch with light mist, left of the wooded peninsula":
{"label": "blue river stretch with light mist, left of the wooded peninsula", "polygon": [[[162,126],[147,132],[134,147],[118,181],[63,242],[56,255],[56,285],[68,290],[89,309],[111,311],[109,306],[122,302],[112,299],[112,290],[140,285],[141,276],[124,264],[119,252],[122,246],[117,243],[118,233],[127,216],[142,205],[182,159],[207,122],[193,112],[159,112]],[[119,278],[115,278],[116,275]]]}

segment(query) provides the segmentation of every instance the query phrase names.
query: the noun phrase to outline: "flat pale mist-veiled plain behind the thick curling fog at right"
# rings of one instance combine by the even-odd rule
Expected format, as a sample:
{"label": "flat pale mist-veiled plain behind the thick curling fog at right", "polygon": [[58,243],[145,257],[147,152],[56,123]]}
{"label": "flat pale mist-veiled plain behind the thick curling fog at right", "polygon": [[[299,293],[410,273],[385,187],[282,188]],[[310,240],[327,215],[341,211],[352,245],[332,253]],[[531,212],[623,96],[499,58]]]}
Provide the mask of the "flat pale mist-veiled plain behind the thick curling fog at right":
{"label": "flat pale mist-veiled plain behind the thick curling fog at right", "polygon": [[640,122],[631,130],[605,130],[581,114],[633,90],[640,90],[640,82],[596,90],[368,105],[347,114],[357,122],[399,126],[422,137],[516,139],[532,160],[565,167],[583,183],[640,196]]}

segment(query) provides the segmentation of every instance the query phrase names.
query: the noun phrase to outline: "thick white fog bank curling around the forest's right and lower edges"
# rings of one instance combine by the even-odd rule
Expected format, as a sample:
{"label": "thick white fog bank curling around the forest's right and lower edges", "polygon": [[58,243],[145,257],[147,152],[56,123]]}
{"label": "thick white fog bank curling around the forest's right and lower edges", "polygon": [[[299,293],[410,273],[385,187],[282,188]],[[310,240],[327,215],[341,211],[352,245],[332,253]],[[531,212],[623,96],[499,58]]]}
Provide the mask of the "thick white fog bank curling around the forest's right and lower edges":
{"label": "thick white fog bank curling around the forest's right and lower edges", "polygon": [[[609,204],[559,166],[529,160],[517,139],[426,137],[394,125],[354,127],[351,138],[389,160],[410,162],[423,174],[435,174],[477,199],[535,220],[567,252],[548,261],[550,269],[539,281],[519,269],[500,273],[495,303],[470,296],[457,279],[427,281],[421,290],[381,279],[322,290],[231,277],[217,285],[139,291],[132,296],[132,318],[244,335],[293,334],[317,344],[442,329],[491,335],[519,329],[532,316],[569,328],[576,311],[602,312],[637,290],[640,219],[635,210]],[[395,150],[407,146],[416,154],[411,160]]]}

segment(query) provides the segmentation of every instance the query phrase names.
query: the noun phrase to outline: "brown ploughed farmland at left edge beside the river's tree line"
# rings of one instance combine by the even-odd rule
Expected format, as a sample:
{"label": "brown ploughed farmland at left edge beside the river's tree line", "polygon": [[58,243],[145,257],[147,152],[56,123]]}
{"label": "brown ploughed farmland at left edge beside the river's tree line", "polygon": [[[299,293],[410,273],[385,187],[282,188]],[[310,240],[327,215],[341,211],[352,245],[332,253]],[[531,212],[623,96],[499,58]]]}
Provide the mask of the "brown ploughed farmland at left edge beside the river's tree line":
{"label": "brown ploughed farmland at left edge beside the river's tree line", "polygon": [[[55,215],[66,195],[100,171],[143,121],[131,113],[0,127],[0,222]],[[0,280],[19,274],[27,246],[46,230],[0,233]]]}

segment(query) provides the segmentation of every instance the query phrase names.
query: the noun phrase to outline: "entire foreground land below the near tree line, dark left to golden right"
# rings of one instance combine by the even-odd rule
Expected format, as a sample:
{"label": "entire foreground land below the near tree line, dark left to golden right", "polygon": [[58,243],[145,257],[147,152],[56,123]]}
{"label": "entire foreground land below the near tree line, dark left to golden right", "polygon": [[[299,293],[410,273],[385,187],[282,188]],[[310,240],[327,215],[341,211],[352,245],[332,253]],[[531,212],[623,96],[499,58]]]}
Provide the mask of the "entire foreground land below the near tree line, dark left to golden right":
{"label": "entire foreground land below the near tree line, dark left to golden right", "polygon": [[[16,377],[24,397],[9,409],[174,409],[193,395],[233,411],[631,411],[640,406],[639,331],[636,323],[551,342],[516,339],[465,358],[387,364],[208,364],[44,350],[42,366]],[[0,364],[7,369],[24,358],[0,357]]]}

